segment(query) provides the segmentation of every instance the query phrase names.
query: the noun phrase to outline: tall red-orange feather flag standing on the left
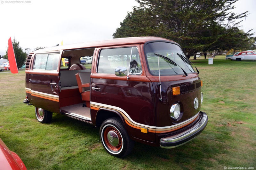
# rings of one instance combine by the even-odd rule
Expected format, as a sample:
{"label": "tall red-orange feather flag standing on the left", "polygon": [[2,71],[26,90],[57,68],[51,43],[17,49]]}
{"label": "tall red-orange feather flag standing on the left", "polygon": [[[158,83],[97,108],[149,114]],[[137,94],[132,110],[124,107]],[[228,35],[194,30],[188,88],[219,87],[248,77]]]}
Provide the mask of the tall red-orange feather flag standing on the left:
{"label": "tall red-orange feather flag standing on the left", "polygon": [[15,54],[14,54],[13,46],[12,46],[12,39],[11,39],[11,37],[8,40],[7,56],[8,56],[8,60],[9,60],[9,64],[10,64],[10,70],[11,70],[12,74],[19,73],[18,72],[17,63],[16,63],[16,59],[15,59]]}

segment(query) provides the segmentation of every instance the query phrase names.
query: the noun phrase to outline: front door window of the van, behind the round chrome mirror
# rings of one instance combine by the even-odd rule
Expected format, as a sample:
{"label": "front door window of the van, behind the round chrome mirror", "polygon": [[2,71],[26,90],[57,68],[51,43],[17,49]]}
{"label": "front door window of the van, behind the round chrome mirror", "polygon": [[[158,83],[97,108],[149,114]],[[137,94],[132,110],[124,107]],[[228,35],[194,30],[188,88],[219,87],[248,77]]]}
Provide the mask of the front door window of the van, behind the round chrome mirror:
{"label": "front door window of the van, behind the round chrome mirror", "polygon": [[115,74],[116,67],[126,67],[129,74],[141,74],[142,69],[138,48],[102,49],[100,51],[97,72]]}

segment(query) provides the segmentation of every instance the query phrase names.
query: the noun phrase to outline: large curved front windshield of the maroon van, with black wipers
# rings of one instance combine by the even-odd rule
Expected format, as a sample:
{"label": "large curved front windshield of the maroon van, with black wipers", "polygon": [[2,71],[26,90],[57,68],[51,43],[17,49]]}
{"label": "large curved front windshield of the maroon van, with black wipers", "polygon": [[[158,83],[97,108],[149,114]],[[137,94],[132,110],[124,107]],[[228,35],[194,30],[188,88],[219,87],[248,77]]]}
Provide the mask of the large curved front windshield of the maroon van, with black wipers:
{"label": "large curved front windshield of the maroon van, with black wipers", "polygon": [[[180,46],[167,42],[152,42],[145,46],[148,70],[152,75],[176,75],[195,72],[193,67],[182,56],[186,57]],[[164,57],[159,57],[159,56]],[[180,56],[181,55],[181,56]],[[176,64],[173,64],[171,59]],[[158,67],[159,60],[159,67]],[[182,70],[182,69],[184,70]]]}

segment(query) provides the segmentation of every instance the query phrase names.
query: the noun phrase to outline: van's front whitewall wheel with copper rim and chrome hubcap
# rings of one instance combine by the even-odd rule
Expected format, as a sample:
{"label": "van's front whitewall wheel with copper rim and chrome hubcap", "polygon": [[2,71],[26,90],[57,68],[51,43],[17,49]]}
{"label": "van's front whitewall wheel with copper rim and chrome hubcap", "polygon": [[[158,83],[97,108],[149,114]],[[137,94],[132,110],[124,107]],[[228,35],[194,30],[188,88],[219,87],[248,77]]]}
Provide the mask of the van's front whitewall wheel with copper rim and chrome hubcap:
{"label": "van's front whitewall wheel with copper rim and chrome hubcap", "polygon": [[124,124],[119,118],[112,117],[100,126],[100,140],[104,149],[118,158],[123,158],[132,152],[134,142],[128,136]]}

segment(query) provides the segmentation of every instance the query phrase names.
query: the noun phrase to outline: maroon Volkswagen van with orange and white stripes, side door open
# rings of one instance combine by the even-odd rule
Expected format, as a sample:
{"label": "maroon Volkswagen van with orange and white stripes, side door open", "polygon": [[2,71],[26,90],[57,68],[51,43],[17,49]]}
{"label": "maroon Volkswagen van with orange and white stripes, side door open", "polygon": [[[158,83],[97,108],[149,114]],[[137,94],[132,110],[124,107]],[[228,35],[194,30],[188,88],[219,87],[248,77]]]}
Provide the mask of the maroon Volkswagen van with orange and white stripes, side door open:
{"label": "maroon Volkswagen van with orange and white stripes, side door open", "polygon": [[179,44],[158,37],[45,48],[28,56],[23,102],[41,123],[54,112],[100,127],[103,147],[116,157],[133,141],[174,148],[208,122],[194,68]]}

